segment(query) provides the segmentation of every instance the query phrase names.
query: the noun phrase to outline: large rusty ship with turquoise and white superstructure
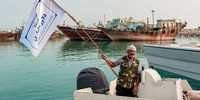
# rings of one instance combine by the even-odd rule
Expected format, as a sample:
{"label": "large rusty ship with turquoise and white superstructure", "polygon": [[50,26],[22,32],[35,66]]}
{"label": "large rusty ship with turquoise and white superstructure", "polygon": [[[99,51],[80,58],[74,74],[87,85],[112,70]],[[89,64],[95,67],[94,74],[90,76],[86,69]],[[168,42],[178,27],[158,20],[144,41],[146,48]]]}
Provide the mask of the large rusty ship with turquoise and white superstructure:
{"label": "large rusty ship with turquoise and white superstructure", "polygon": [[168,41],[175,39],[186,24],[175,19],[160,19],[154,25],[130,17],[107,21],[105,27],[99,28],[113,41]]}

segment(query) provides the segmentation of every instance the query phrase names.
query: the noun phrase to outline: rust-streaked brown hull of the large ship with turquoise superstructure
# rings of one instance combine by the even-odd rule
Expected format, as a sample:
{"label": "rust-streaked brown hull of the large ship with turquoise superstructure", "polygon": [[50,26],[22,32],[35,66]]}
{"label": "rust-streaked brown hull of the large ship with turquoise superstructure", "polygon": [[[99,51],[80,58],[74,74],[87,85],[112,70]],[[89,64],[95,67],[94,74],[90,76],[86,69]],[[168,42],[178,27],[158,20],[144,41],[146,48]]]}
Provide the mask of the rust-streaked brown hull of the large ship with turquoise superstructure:
{"label": "rust-streaked brown hull of the large ship with turquoise superstructure", "polygon": [[158,30],[120,30],[100,28],[113,41],[169,41],[173,40],[183,25]]}

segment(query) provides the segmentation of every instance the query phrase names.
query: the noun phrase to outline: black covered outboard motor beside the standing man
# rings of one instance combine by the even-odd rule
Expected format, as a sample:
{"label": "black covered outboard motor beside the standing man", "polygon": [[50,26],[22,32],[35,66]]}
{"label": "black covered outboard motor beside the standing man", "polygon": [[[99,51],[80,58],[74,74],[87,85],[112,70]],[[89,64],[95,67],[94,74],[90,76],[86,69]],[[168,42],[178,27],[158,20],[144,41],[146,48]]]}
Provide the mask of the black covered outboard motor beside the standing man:
{"label": "black covered outboard motor beside the standing man", "polygon": [[94,93],[106,94],[109,91],[108,80],[100,69],[91,67],[79,72],[77,90],[89,87],[92,88]]}

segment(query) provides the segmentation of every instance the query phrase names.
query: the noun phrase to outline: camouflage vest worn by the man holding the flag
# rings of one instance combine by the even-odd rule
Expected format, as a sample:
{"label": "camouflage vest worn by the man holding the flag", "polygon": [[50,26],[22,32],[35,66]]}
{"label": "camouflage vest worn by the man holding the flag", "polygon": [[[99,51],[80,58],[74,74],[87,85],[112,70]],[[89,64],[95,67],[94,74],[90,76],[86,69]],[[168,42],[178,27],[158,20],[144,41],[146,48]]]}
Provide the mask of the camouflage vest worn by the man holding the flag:
{"label": "camouflage vest worn by the man holding the flag", "polygon": [[128,57],[122,57],[117,84],[127,89],[132,88],[136,82],[138,67],[138,59],[135,58],[132,65],[129,67]]}

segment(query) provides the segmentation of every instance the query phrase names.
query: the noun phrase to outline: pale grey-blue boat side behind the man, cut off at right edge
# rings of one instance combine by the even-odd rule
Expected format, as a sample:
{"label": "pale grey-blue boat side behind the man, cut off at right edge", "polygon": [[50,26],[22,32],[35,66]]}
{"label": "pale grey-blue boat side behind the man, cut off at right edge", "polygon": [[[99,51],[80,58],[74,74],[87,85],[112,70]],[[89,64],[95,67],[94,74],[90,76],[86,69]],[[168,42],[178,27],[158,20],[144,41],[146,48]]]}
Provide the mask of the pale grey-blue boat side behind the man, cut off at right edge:
{"label": "pale grey-blue boat side behind the man, cut off at right edge", "polygon": [[144,44],[142,47],[150,66],[200,80],[198,44]]}

